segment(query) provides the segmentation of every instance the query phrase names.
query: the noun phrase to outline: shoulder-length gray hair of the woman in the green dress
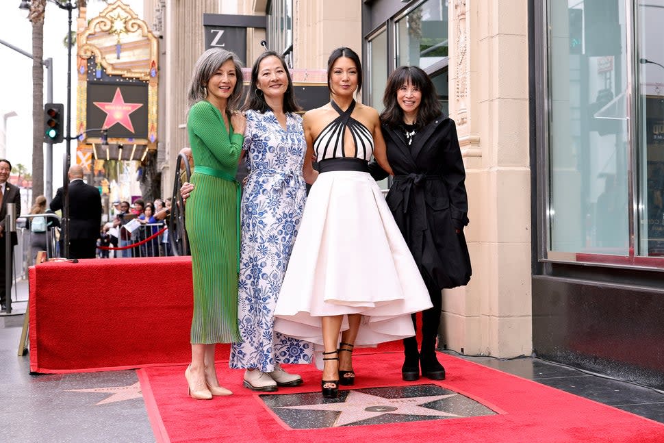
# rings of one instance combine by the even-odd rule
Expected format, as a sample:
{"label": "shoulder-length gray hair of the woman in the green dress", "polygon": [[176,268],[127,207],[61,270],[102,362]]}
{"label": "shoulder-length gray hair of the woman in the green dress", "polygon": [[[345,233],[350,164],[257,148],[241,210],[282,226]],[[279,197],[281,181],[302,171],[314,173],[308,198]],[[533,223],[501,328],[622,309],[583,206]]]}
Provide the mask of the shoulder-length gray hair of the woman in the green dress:
{"label": "shoulder-length gray hair of the woman in the green dress", "polygon": [[194,65],[194,74],[190,81],[189,89],[187,92],[187,102],[189,107],[199,101],[207,98],[207,82],[212,78],[212,75],[217,72],[219,67],[225,62],[233,60],[235,64],[235,76],[238,81],[235,83],[235,88],[228,99],[227,110],[237,110],[242,99],[242,62],[237,54],[221,48],[211,48],[201,54],[199,60],[196,60]]}

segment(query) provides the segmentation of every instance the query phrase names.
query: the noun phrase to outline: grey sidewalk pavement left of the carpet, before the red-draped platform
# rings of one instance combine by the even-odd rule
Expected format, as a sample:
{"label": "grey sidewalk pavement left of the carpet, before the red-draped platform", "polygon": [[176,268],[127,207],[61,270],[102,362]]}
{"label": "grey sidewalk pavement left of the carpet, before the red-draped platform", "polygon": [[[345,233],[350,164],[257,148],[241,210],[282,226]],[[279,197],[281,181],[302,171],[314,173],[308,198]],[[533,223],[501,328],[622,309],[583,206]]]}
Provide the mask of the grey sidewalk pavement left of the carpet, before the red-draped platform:
{"label": "grey sidewalk pavement left of the carpet, before the red-draped platform", "polygon": [[154,443],[136,370],[30,374],[29,352],[18,355],[28,294],[18,281],[0,314],[0,442]]}

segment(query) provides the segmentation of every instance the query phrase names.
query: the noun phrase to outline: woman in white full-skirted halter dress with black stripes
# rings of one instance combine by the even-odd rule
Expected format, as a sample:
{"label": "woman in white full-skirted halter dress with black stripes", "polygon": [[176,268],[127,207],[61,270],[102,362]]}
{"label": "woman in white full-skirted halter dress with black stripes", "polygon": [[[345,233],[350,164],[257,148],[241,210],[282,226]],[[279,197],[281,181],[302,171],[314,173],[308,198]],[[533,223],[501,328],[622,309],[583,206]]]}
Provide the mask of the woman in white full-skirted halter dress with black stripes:
{"label": "woman in white full-skirted halter dress with black stripes", "polygon": [[[350,334],[344,332],[338,349],[350,355],[353,345],[374,346],[414,336],[410,314],[431,307],[431,299],[380,188],[368,174],[376,133],[353,117],[356,103],[352,94],[359,87],[350,90],[350,99],[346,97],[348,88],[338,94],[335,90],[335,69],[341,62],[352,62],[350,66],[355,65],[356,73],[359,68],[361,78],[357,55],[348,48],[335,50],[328,68],[333,100],[310,112],[329,116],[335,111],[338,116],[319,128],[317,134],[316,129],[307,134],[305,114],[305,136],[320,169],[307,198],[274,310],[274,330],[313,342],[318,350],[325,346],[327,352],[322,357],[341,358],[340,381],[350,385],[355,377],[353,370],[342,370],[344,355],[331,357],[337,349],[328,349],[329,337],[324,340],[326,318],[342,316],[334,340],[339,340],[339,331],[355,329]],[[344,86],[343,81],[340,84]],[[345,111],[335,98],[349,103]],[[377,118],[372,108],[357,107],[363,108],[356,111],[358,118],[370,112]],[[382,138],[379,141],[384,155]],[[320,367],[321,355],[316,354]],[[336,396],[335,383],[338,381],[329,377],[323,381],[324,396]]]}

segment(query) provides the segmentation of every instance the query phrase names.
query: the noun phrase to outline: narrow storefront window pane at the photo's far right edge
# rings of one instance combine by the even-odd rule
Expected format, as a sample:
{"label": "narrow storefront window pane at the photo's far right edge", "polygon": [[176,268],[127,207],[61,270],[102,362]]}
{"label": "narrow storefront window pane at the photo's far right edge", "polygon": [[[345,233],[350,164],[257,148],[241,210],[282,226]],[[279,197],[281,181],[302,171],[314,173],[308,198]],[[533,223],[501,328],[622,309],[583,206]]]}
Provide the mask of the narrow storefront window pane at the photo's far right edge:
{"label": "narrow storefront window pane at the photo's far right edge", "polygon": [[637,5],[639,255],[664,257],[664,0]]}

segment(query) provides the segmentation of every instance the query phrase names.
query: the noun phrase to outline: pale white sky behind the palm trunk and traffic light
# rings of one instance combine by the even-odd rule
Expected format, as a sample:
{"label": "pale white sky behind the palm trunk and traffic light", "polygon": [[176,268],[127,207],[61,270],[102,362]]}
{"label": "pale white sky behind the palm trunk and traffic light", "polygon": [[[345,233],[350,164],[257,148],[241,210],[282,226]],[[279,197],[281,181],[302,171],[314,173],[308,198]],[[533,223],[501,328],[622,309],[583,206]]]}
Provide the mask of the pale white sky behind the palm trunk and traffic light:
{"label": "pale white sky behind the palm trunk and traffic light", "polygon": [[[27,11],[19,10],[20,0],[0,1],[0,39],[32,52],[32,24]],[[142,0],[124,0],[140,18]],[[105,8],[101,1],[88,0],[88,19],[99,15]],[[78,11],[73,10],[72,27],[76,29]],[[150,24],[148,24],[150,25]],[[65,103],[67,94],[67,48],[63,40],[67,34],[67,11],[47,3],[44,19],[44,59],[53,58],[53,103]],[[76,103],[76,48],[72,48],[72,103]],[[23,164],[32,170],[32,60],[25,55],[0,45],[0,118],[9,112],[16,116],[7,120],[5,131],[6,155],[14,166]],[[47,103],[47,70],[44,69],[44,103]],[[72,110],[72,131],[75,128],[75,110]],[[2,123],[0,122],[0,125]],[[75,134],[72,134],[75,135]],[[44,149],[46,145],[44,144]],[[73,151],[76,142],[71,142]],[[65,143],[53,145],[53,191],[62,186]],[[72,153],[75,158],[75,152]]]}

